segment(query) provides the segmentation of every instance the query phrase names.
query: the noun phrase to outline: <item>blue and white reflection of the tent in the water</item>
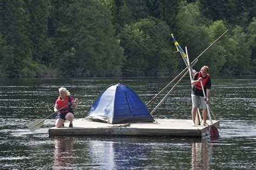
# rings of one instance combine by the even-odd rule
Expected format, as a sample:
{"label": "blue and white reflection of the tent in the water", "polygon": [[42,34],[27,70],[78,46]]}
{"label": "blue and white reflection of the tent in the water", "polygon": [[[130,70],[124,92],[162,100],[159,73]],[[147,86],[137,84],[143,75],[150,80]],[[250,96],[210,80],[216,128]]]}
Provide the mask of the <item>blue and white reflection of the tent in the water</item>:
{"label": "blue and white reflection of the tent in the water", "polygon": [[[156,143],[145,142],[144,138],[111,138],[111,141],[89,140],[93,167],[104,169],[142,168],[152,164],[150,153]],[[153,156],[153,155],[152,155]]]}

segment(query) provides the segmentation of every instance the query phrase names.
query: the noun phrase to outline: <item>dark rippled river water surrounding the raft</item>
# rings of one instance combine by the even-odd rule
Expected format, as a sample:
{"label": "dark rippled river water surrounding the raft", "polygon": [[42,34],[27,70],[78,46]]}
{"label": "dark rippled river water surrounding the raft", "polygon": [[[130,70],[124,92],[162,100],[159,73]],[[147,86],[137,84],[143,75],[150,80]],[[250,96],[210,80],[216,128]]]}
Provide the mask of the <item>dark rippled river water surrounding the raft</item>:
{"label": "dark rippled river water surrounding the raft", "polygon": [[[171,77],[1,79],[0,168],[255,169],[255,78],[212,77],[211,106],[220,120],[220,138],[217,140],[210,137],[50,138],[48,130],[54,126],[54,115],[35,132],[26,127],[53,113],[60,86],[65,86],[72,96],[79,98],[75,118],[84,118],[99,93],[110,84],[122,83],[131,87],[147,103],[172,80]],[[186,77],[153,117],[191,119],[190,88]],[[148,107],[149,111],[167,91]]]}

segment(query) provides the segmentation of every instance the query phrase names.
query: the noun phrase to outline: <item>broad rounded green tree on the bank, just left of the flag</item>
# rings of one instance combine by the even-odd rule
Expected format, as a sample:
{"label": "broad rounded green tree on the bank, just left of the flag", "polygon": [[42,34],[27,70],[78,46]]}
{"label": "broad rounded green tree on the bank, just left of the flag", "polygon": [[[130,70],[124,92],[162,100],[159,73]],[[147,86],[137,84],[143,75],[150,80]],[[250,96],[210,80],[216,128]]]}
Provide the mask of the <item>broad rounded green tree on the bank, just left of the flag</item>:
{"label": "broad rounded green tree on the bank, just left of the flag", "polygon": [[169,32],[164,22],[154,18],[125,25],[118,38],[127,57],[124,66],[127,76],[156,76],[173,71],[172,63],[175,67],[176,62],[168,50]]}

